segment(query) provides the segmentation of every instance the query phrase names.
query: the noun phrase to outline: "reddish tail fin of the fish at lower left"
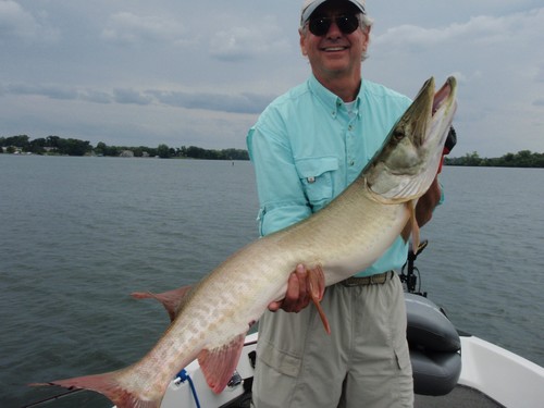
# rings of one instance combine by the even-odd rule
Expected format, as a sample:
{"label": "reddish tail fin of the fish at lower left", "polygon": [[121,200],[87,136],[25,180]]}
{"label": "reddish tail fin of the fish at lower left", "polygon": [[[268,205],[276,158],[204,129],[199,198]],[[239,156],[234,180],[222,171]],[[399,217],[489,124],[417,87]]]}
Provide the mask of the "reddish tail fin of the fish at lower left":
{"label": "reddish tail fin of the fish at lower left", "polygon": [[100,393],[115,404],[116,408],[159,408],[162,396],[143,398],[136,390],[123,385],[120,374],[125,370],[107,372],[103,374],[76,376],[66,380],[57,380],[48,383],[34,383],[30,386],[58,385],[67,390],[90,390]]}

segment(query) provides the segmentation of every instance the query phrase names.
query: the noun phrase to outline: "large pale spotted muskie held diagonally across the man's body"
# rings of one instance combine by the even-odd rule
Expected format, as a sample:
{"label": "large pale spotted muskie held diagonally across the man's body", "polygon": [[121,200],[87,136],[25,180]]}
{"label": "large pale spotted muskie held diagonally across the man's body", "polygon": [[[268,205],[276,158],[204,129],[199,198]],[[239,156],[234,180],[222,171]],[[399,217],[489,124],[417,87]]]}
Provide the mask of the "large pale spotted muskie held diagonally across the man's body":
{"label": "large pale spotted muskie held diagonally across the man's body", "polygon": [[285,296],[297,264],[321,268],[325,285],[333,285],[371,265],[399,236],[413,218],[413,202],[436,176],[455,94],[455,78],[436,95],[434,79],[429,79],[343,194],[307,220],[227,258],[185,296],[170,327],[141,360],[47,385],[94,390],[119,408],[157,408],[173,376],[198,358],[210,387],[221,392],[250,324]]}

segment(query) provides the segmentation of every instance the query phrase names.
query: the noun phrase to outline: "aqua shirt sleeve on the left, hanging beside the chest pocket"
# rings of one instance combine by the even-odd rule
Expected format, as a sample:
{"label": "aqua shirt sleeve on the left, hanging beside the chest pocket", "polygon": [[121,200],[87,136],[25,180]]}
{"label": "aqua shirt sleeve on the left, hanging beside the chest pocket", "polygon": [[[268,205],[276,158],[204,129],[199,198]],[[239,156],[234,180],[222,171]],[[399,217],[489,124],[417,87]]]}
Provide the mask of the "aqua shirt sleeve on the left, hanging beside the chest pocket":
{"label": "aqua shirt sleeve on the left, hanging beside the chest pocket", "polygon": [[287,135],[259,121],[247,135],[259,195],[259,231],[268,235],[308,218],[311,209],[295,168]]}

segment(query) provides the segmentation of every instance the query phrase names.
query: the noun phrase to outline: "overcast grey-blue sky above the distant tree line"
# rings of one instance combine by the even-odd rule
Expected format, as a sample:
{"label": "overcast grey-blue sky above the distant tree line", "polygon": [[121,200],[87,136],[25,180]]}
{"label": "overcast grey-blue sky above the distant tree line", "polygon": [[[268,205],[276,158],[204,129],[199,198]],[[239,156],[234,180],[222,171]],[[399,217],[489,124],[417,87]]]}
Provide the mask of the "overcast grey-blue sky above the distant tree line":
{"label": "overcast grey-blue sky above the distant tree line", "polygon": [[[245,148],[305,81],[301,0],[0,0],[0,136]],[[368,0],[363,76],[459,82],[452,156],[544,152],[542,0]]]}

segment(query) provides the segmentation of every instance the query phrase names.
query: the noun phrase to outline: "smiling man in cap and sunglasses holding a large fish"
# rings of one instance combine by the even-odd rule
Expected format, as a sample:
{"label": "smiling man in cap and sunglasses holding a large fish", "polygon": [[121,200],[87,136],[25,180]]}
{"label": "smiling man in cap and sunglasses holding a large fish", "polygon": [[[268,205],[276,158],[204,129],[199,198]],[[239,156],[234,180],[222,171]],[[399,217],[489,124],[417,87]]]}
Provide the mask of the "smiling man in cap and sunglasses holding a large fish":
{"label": "smiling man in cap and sunglasses holding a large fish", "polygon": [[[261,235],[309,217],[342,193],[410,104],[361,77],[371,24],[364,0],[304,2],[300,49],[311,75],[273,101],[247,138]],[[440,197],[435,181],[418,202],[420,225]],[[406,261],[403,235],[369,269],[326,288],[321,305],[331,335],[316,308],[306,307],[307,272],[297,267],[285,299],[271,304],[259,323],[256,408],[412,406],[404,295],[393,272]]]}

